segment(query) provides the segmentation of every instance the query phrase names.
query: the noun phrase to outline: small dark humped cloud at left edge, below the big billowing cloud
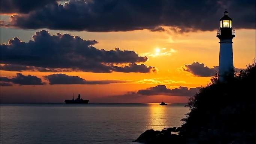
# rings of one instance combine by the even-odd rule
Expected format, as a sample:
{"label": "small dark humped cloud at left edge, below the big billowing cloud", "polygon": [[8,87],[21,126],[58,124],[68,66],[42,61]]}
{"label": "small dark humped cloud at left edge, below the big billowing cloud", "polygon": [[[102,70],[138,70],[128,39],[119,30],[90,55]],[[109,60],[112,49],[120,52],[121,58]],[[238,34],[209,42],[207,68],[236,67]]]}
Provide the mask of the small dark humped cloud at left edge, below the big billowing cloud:
{"label": "small dark humped cloud at left edge, below the big billowing cloud", "polygon": [[42,80],[36,76],[31,76],[30,74],[24,76],[21,73],[17,73],[15,77],[8,78],[8,77],[1,77],[1,82],[11,82],[14,84],[19,85],[43,85]]}

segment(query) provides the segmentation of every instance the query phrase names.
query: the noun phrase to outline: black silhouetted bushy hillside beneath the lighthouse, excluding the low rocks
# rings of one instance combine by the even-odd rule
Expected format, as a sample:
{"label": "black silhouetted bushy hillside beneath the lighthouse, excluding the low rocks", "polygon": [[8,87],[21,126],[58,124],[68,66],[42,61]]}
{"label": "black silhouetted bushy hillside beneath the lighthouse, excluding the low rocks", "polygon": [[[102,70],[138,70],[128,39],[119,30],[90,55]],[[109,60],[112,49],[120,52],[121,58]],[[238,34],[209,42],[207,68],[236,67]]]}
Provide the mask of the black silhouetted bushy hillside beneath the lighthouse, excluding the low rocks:
{"label": "black silhouetted bushy hillside beneath the lighthouse, excluding the low rocks", "polygon": [[179,133],[207,144],[253,143],[256,136],[256,60],[225,82],[218,75],[189,98],[191,112]]}

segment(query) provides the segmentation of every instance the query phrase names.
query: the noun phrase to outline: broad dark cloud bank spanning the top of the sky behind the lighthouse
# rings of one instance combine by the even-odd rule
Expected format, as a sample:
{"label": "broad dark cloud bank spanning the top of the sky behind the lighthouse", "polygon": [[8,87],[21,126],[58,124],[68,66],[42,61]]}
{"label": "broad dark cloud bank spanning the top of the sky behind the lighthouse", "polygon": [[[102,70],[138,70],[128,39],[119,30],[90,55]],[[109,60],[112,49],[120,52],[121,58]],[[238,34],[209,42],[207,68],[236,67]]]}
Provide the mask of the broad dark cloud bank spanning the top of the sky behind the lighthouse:
{"label": "broad dark cloud bank spanning the top of the sky behind the lighthouse", "polygon": [[42,5],[28,15],[14,15],[10,24],[1,25],[97,32],[155,31],[159,26],[206,31],[217,29],[228,9],[234,28],[255,29],[255,5],[255,0],[70,0],[64,6]]}

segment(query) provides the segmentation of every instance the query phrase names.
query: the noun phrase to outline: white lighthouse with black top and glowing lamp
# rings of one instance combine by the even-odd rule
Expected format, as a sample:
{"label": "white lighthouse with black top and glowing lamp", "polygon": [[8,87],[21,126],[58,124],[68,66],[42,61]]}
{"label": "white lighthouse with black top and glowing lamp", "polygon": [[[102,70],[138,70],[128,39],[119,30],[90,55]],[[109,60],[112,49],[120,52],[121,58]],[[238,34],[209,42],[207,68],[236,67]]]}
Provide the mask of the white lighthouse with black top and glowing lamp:
{"label": "white lighthouse with black top and glowing lamp", "polygon": [[235,37],[235,30],[232,29],[232,19],[227,10],[220,19],[217,37],[220,40],[219,81],[224,82],[227,77],[234,76],[232,39]]}

